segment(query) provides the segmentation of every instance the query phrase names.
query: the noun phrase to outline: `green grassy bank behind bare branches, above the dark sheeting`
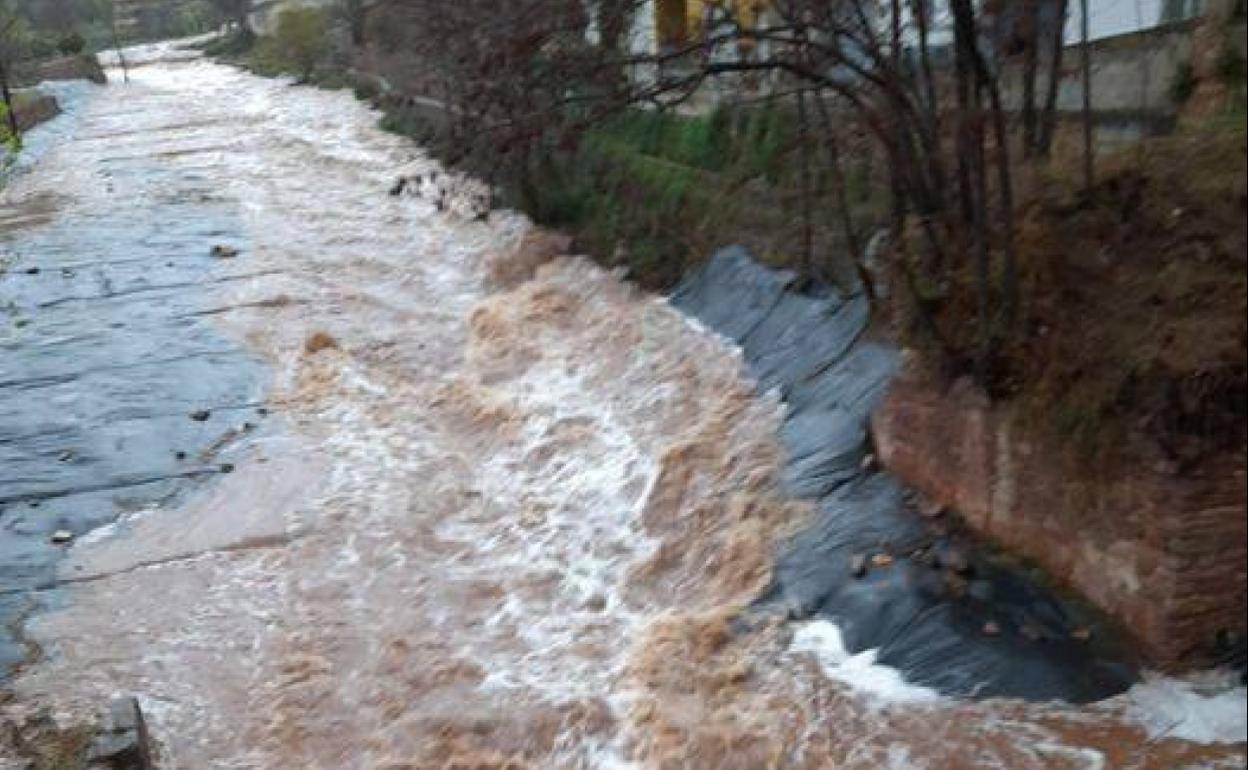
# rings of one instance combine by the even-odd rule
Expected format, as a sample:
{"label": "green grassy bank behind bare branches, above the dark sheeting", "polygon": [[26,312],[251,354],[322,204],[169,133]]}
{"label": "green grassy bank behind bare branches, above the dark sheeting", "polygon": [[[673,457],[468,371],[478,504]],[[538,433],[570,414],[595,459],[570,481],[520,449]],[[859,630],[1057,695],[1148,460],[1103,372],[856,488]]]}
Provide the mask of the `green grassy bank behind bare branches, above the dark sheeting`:
{"label": "green grassy bank behind bare branches, above the dark sheeting", "polygon": [[[433,120],[428,109],[393,109],[381,125],[437,149]],[[570,146],[547,146],[530,163],[529,183],[503,190],[503,203],[572,232],[579,248],[625,267],[646,287],[670,287],[728,243],[795,266],[801,246],[794,124],[775,102],[688,116],[630,110]],[[855,220],[866,228],[881,211],[881,191],[867,183],[867,162],[851,165],[846,176]],[[842,236],[827,216],[830,188],[826,175],[816,173],[815,246],[822,256],[815,267],[849,281]]]}

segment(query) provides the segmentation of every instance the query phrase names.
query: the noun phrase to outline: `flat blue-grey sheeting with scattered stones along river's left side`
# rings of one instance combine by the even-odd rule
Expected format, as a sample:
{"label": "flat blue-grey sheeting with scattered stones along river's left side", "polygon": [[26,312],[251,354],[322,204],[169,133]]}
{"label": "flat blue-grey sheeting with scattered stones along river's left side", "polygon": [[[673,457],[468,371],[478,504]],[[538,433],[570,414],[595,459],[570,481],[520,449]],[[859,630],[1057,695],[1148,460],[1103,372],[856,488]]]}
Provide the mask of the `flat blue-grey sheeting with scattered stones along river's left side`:
{"label": "flat blue-grey sheeting with scattered stones along river's left side", "polygon": [[228,468],[215,444],[257,419],[263,383],[212,319],[215,285],[255,272],[211,256],[246,247],[235,206],[193,170],[114,150],[112,126],[47,131],[66,129],[94,142],[92,162],[0,205],[0,678],[25,655],[15,624],[42,600],[31,589],[55,582],[54,535]]}

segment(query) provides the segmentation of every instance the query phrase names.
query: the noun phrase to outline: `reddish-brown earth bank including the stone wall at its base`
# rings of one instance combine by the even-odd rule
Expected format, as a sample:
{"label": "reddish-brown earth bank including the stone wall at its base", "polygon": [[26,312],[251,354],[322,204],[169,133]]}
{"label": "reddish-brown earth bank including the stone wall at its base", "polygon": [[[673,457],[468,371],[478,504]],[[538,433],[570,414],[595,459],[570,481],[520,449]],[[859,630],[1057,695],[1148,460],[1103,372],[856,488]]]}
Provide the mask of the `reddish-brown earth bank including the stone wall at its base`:
{"label": "reddish-brown earth bank including the stone wall at its base", "polygon": [[890,469],[1167,668],[1244,634],[1246,176],[1222,127],[1123,154],[1091,196],[1050,180],[1021,212],[1011,392],[915,357],[874,421]]}

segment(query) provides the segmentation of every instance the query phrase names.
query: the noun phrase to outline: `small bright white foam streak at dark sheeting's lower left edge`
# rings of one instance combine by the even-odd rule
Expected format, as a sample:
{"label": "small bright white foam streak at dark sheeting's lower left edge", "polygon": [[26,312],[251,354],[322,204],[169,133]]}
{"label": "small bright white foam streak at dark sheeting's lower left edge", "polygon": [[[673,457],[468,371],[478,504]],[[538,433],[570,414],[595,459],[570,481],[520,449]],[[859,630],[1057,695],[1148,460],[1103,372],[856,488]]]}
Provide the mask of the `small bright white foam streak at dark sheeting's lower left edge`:
{"label": "small bright white foam streak at dark sheeting's lower left edge", "polygon": [[907,683],[897,669],[876,663],[877,650],[851,654],[845,649],[841,629],[830,620],[807,620],[799,624],[794,630],[789,651],[815,655],[829,679],[885,701],[926,703],[941,698],[940,693],[931,688]]}

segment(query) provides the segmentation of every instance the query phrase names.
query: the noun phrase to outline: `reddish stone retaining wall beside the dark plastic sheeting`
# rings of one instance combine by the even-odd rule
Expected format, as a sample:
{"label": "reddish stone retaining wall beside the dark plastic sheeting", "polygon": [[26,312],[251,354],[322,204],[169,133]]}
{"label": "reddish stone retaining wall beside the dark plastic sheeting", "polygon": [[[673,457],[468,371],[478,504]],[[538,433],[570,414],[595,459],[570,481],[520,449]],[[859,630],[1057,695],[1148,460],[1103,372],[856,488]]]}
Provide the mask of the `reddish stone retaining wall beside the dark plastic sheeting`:
{"label": "reddish stone retaining wall beside the dark plastic sheeting", "polygon": [[1243,454],[1199,474],[1112,474],[1042,451],[970,387],[906,376],[872,417],[881,462],[978,533],[1117,618],[1154,665],[1208,664],[1243,638]]}

